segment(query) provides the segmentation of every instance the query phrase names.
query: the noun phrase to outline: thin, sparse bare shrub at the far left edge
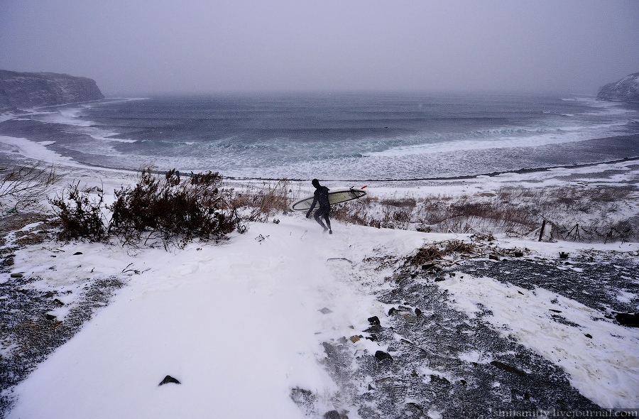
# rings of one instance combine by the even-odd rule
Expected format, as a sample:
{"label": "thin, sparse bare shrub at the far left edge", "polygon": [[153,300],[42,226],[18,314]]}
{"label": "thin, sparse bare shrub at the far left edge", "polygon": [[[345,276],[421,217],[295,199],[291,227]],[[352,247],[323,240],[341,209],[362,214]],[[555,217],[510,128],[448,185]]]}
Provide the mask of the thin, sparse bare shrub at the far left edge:
{"label": "thin, sparse bare shrub at the far left edge", "polygon": [[58,181],[53,165],[41,163],[13,168],[0,179],[0,206],[9,205],[9,212],[18,212],[40,202],[46,202],[49,187]]}

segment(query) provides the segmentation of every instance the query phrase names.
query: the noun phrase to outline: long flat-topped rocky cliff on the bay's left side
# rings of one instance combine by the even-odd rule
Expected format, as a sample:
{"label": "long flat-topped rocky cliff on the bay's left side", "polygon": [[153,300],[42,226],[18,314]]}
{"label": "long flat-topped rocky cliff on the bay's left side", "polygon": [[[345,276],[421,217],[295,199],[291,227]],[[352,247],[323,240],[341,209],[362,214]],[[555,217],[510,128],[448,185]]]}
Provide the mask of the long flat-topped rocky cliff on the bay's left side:
{"label": "long flat-topped rocky cliff on the bay's left side", "polygon": [[95,81],[87,77],[0,70],[0,109],[44,107],[103,98]]}

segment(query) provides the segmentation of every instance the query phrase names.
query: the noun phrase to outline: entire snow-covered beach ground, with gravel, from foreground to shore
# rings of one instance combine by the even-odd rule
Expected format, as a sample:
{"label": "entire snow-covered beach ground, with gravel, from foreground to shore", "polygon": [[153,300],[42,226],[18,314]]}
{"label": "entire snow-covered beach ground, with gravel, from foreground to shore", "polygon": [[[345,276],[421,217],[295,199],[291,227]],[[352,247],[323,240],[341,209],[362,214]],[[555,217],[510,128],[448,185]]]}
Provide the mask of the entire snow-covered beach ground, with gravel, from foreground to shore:
{"label": "entire snow-covered beach ground, with gravel, from foreground to shore", "polygon": [[[26,140],[0,142],[5,163],[55,163],[60,186],[80,180],[103,187],[107,200],[135,180]],[[638,214],[635,160],[379,182],[368,194],[472,196],[503,185],[623,185],[635,192],[620,208]],[[615,320],[639,311],[639,244],[337,221],[328,236],[303,214],[274,218],[221,244],[170,251],[37,239],[45,226],[37,219],[6,229],[0,303],[26,295],[23,306],[46,311],[5,313],[21,323],[4,326],[0,360],[22,376],[2,388],[3,415],[459,418],[639,406],[639,329]],[[418,249],[450,241],[475,251],[410,263]],[[101,287],[104,295],[89,295]],[[37,365],[21,364],[28,342],[11,341],[12,329],[44,329],[30,335],[35,342],[65,322],[81,326],[46,359],[31,358]],[[158,386],[166,376],[180,384]]]}

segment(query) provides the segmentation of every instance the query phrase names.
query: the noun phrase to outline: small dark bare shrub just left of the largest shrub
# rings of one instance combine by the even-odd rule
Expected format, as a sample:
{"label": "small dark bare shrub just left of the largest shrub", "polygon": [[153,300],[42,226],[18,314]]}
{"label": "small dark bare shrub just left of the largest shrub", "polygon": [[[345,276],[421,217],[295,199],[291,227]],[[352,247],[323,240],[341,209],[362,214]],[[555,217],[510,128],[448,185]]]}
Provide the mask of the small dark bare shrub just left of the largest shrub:
{"label": "small dark bare shrub just left of the largest shrub", "polygon": [[66,187],[61,195],[49,201],[62,227],[58,239],[104,241],[107,239],[107,227],[102,214],[104,201],[102,191],[99,192],[97,199],[90,198],[89,194],[78,190],[79,185],[78,181]]}

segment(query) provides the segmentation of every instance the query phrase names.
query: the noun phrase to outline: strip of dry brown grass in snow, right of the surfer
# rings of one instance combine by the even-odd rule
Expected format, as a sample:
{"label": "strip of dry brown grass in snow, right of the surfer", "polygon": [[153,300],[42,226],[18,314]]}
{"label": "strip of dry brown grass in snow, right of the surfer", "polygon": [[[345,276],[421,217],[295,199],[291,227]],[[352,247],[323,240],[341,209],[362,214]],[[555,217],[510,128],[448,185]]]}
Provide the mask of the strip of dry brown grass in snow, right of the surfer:
{"label": "strip of dry brown grass in snow, right of the surfer", "polygon": [[379,200],[366,197],[338,207],[344,222],[390,229],[460,234],[535,236],[545,220],[552,238],[573,241],[639,239],[633,187],[502,187],[475,195],[429,195]]}

